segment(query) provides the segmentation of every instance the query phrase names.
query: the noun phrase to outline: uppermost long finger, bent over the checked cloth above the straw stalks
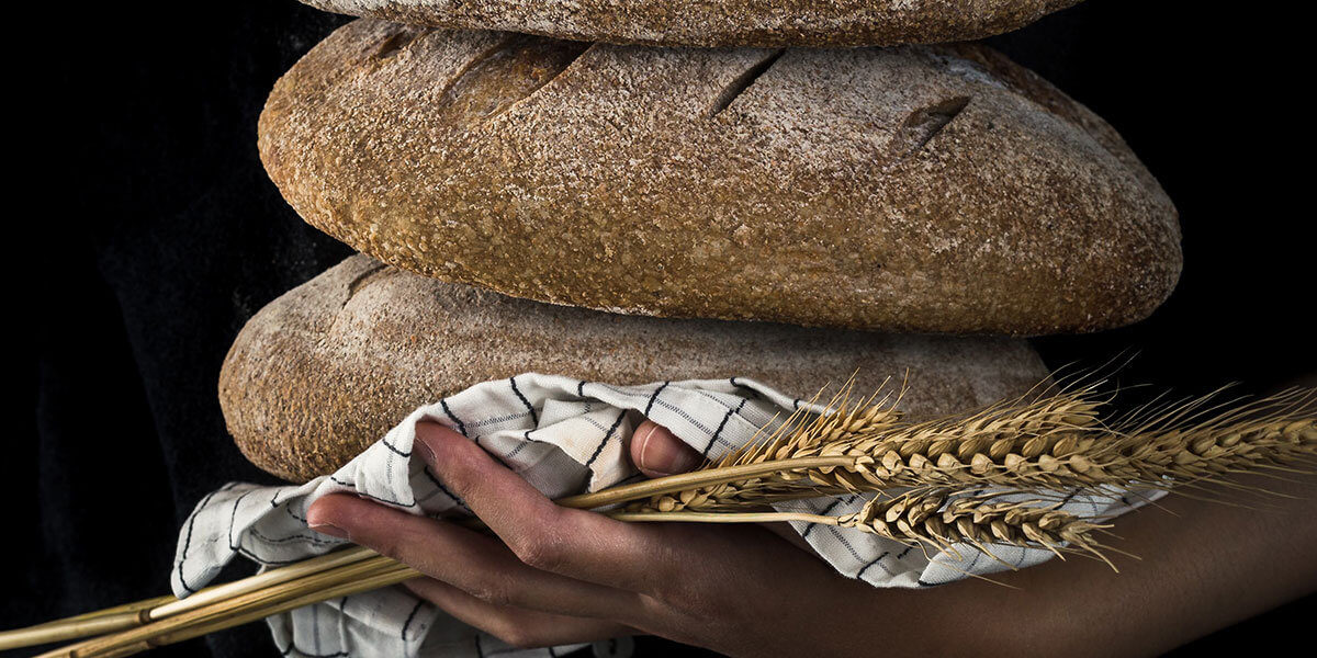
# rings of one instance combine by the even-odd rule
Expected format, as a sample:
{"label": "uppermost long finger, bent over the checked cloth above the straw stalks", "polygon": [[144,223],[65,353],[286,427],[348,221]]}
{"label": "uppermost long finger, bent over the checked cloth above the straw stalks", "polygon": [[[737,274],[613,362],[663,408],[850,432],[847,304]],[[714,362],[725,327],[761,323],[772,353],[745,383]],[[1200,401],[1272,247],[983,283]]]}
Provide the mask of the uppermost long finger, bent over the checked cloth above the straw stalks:
{"label": "uppermost long finger, bent over the checked cloth above the straw stalks", "polygon": [[419,422],[416,446],[435,475],[532,567],[636,592],[677,575],[653,528],[558,507],[443,425]]}

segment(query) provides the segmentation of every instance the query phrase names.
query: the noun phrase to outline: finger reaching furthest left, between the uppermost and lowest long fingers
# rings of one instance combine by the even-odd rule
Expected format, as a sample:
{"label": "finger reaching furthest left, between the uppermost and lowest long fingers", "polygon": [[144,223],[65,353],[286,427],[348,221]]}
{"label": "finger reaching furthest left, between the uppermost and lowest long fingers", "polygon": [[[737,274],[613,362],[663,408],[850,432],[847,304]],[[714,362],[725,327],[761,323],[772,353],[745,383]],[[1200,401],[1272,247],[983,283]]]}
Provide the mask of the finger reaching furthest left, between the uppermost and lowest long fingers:
{"label": "finger reaching furthest left, between the uppermost and lowest long fingers", "polygon": [[307,521],[316,532],[349,538],[491,604],[608,619],[639,609],[633,592],[531,569],[491,537],[356,496],[321,497]]}

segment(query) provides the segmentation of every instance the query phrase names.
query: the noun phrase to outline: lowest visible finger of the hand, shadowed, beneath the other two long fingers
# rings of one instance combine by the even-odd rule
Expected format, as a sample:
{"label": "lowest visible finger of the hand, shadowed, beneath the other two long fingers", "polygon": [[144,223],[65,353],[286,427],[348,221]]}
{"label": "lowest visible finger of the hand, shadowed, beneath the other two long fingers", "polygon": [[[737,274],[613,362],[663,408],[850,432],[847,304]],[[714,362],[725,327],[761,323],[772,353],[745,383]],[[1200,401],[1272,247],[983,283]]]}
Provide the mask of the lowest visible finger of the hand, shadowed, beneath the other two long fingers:
{"label": "lowest visible finger of the hand, shadowed, beneath the other two long fingers", "polygon": [[403,584],[444,612],[520,649],[595,642],[636,633],[631,626],[599,619],[497,605],[431,578],[417,578]]}

